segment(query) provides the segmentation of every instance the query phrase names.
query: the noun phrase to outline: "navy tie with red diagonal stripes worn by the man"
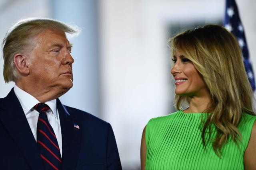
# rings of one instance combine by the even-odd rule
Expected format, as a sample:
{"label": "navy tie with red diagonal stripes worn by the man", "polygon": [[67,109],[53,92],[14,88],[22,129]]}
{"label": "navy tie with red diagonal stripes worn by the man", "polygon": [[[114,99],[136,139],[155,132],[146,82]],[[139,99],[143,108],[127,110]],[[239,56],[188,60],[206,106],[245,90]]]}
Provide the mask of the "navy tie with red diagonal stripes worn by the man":
{"label": "navy tie with red diagonal stripes worn by the man", "polygon": [[60,148],[46,114],[50,107],[47,104],[38,103],[34,106],[34,109],[40,113],[37,122],[36,142],[44,169],[60,170],[62,161]]}

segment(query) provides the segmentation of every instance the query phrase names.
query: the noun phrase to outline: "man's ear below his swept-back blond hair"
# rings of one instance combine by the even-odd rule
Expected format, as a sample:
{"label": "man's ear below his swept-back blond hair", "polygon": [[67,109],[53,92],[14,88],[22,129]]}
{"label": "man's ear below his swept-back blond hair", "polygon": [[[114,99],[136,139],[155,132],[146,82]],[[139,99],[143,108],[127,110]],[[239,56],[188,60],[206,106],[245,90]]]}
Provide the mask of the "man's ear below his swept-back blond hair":
{"label": "man's ear below his swept-back blond hair", "polygon": [[25,74],[25,75],[29,74],[27,59],[28,57],[21,53],[16,53],[14,55],[13,61],[16,69],[18,70],[18,72],[20,72],[20,74]]}

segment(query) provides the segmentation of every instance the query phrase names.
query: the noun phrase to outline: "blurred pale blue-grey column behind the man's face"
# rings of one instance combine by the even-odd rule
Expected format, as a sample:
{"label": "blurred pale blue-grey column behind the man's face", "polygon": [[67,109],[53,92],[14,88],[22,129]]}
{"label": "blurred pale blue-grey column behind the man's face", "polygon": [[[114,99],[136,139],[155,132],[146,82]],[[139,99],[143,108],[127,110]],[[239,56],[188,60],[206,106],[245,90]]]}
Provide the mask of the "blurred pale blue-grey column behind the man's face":
{"label": "blurred pale blue-grey column behind the man's face", "polygon": [[51,17],[82,28],[70,39],[74,86],[60,100],[93,115],[100,115],[98,74],[98,0],[52,0]]}

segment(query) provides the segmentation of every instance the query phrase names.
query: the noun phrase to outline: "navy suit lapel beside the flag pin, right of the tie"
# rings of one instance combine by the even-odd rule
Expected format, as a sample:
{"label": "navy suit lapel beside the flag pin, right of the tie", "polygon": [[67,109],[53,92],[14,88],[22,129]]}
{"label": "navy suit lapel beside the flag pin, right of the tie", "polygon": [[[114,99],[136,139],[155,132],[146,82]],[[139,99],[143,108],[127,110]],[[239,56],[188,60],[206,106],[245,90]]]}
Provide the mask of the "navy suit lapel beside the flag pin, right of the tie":
{"label": "navy suit lapel beside the flag pin, right of the tie", "polygon": [[61,104],[59,99],[57,99],[57,109],[62,133],[62,170],[70,170],[76,167],[78,161],[81,129],[74,127],[75,116]]}

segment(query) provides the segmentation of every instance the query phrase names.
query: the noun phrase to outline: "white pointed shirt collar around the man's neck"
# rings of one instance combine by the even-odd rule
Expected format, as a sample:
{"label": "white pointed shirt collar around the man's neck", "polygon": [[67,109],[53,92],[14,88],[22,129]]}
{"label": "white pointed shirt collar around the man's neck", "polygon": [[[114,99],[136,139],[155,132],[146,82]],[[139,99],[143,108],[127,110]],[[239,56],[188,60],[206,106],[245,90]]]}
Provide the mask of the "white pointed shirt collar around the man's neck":
{"label": "white pointed shirt collar around the man's neck", "polygon": [[[22,106],[22,109],[23,109],[25,115],[28,114],[28,112],[36,104],[40,103],[36,98],[34,98],[34,96],[28,94],[27,92],[25,92],[24,90],[22,90],[21,88],[19,88],[16,85],[14,86],[14,93],[16,94],[18,100],[20,101],[20,104]],[[50,109],[54,113],[54,116],[56,117],[56,119],[58,119],[56,99],[45,102],[45,104],[47,104],[50,107]]]}

